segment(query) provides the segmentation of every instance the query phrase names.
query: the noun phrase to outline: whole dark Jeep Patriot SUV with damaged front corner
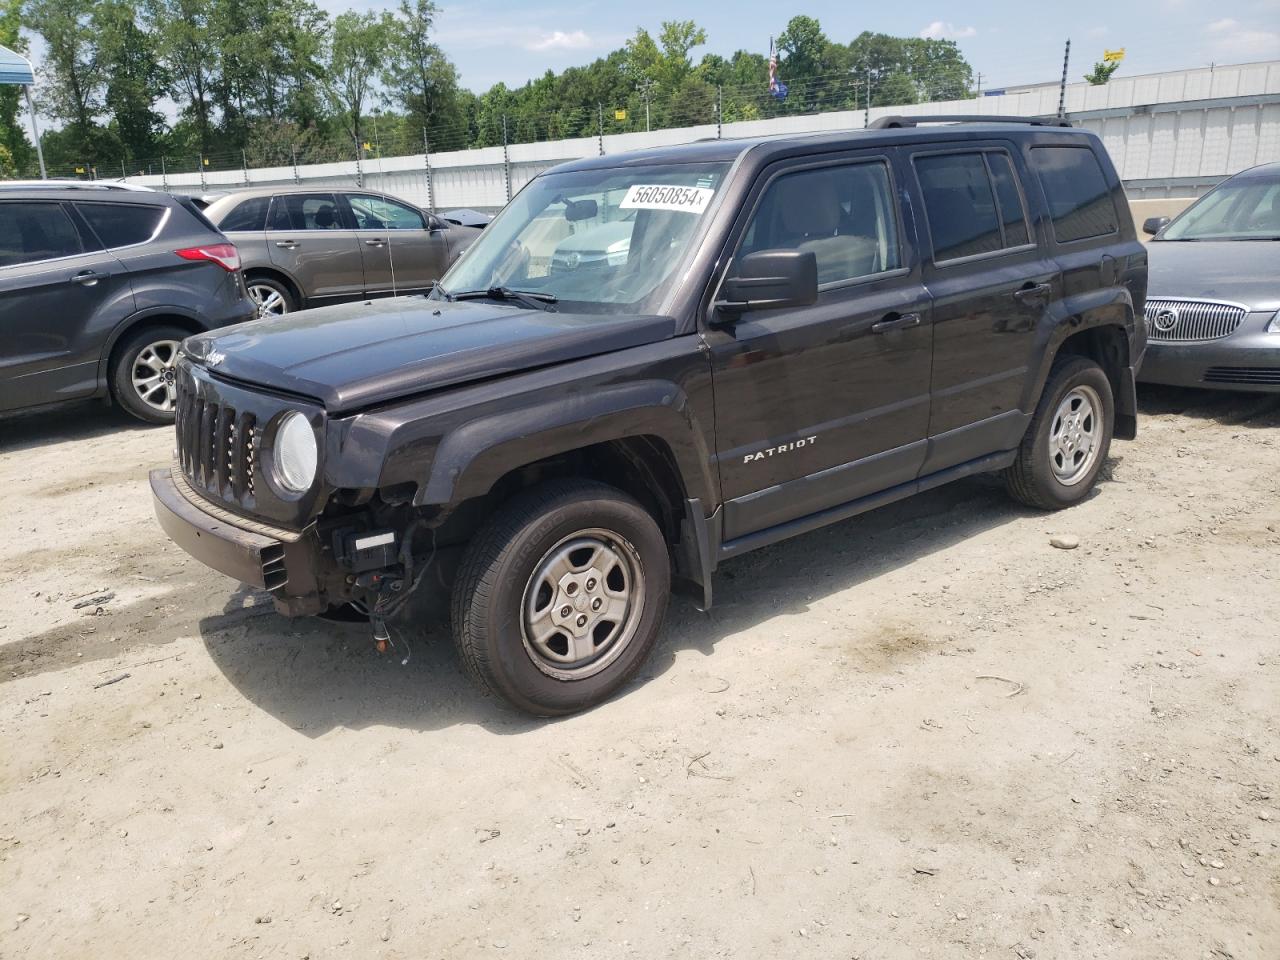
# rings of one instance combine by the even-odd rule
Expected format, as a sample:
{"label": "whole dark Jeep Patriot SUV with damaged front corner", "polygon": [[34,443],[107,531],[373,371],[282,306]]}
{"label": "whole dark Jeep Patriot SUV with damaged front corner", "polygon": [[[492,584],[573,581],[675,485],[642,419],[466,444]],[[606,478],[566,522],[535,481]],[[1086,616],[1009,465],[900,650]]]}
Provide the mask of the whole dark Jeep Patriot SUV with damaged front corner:
{"label": "whole dark Jeep Patriot SUV with damaged front corner", "polygon": [[564,164],[429,297],[192,337],[161,526],[380,645],[447,611],[483,686],[559,714],[748,550],[979,472],[1079,503],[1138,428],[1115,168],[1085,131],[896,123]]}

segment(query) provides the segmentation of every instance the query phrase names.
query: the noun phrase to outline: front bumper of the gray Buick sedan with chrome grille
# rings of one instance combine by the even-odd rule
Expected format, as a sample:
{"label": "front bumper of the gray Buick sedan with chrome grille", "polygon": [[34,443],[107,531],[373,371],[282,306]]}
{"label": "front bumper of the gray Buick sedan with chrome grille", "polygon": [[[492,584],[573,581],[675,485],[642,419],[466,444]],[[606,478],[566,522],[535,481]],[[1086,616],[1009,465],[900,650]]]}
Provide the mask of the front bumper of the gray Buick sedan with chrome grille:
{"label": "front bumper of the gray Buick sedan with chrome grille", "polygon": [[1149,340],[1138,380],[1280,393],[1280,334],[1256,330],[1199,343]]}

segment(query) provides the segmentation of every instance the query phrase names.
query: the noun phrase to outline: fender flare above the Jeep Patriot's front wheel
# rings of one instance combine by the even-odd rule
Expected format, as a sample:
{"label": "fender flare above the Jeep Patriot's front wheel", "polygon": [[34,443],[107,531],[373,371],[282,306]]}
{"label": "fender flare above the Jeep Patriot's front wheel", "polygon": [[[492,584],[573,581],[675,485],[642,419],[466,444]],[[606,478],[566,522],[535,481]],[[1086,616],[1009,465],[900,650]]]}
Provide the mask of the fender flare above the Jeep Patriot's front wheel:
{"label": "fender flare above the Jeep Patriot's front wheel", "polygon": [[447,434],[413,502],[457,504],[489,493],[502,476],[526,463],[609,440],[657,436],[671,449],[686,495],[712,503],[717,498],[707,434],[689,397],[669,381],[575,392],[471,420]]}

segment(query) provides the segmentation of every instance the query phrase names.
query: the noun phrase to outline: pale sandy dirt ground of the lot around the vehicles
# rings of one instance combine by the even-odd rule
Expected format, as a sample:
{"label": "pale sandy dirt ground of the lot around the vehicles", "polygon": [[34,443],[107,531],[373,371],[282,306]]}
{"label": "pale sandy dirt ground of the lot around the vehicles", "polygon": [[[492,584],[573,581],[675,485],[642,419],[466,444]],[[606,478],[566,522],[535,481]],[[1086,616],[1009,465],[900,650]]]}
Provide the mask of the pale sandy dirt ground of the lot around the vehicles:
{"label": "pale sandy dirt ground of the lot around the vehicles", "polygon": [[1280,398],[1143,408],[1066,513],[727,566],[559,722],[188,561],[168,430],[0,421],[0,956],[1275,960]]}

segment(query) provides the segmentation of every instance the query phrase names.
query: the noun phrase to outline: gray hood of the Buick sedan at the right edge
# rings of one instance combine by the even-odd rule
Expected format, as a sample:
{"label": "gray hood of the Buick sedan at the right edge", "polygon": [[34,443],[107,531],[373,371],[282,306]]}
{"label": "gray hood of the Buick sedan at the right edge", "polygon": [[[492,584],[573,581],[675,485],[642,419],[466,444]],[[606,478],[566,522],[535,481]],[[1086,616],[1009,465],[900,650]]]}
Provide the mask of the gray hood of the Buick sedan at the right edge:
{"label": "gray hood of the Buick sedan at the right edge", "polygon": [[1280,242],[1153,241],[1147,296],[1226,300],[1251,311],[1280,310]]}

